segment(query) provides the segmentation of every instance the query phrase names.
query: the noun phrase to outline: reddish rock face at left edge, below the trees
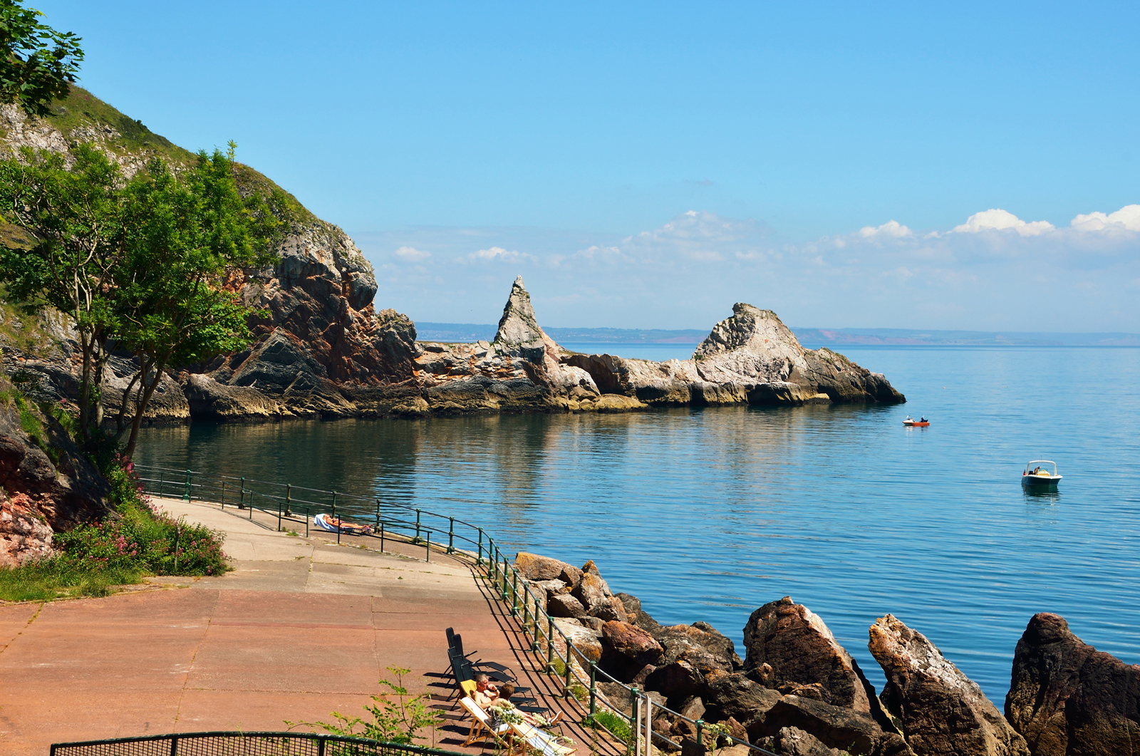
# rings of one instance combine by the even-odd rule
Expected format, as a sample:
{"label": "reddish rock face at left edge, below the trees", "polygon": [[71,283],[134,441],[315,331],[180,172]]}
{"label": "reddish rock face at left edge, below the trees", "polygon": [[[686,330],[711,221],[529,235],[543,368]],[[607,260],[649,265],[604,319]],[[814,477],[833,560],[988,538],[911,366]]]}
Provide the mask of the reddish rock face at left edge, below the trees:
{"label": "reddish rock face at left edge, below the trees", "polygon": [[32,403],[21,407],[0,377],[0,567],[50,556],[56,533],[109,512],[108,493],[63,426]]}

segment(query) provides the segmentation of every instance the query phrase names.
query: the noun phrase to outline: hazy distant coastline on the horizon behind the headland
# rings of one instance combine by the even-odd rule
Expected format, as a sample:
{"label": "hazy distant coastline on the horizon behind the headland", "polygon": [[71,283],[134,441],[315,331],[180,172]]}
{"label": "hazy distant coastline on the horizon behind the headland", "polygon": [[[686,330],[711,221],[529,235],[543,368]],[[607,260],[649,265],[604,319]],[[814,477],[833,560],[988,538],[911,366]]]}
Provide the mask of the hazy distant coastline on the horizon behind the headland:
{"label": "hazy distant coastline on the horizon behind the headland", "polygon": [[[416,323],[420,341],[492,341],[498,326],[475,323]],[[559,342],[624,344],[698,344],[708,331],[682,328],[544,328]],[[920,331],[913,328],[796,328],[804,344],[991,346],[991,347],[1140,347],[1137,333],[1057,333],[1018,331]]]}

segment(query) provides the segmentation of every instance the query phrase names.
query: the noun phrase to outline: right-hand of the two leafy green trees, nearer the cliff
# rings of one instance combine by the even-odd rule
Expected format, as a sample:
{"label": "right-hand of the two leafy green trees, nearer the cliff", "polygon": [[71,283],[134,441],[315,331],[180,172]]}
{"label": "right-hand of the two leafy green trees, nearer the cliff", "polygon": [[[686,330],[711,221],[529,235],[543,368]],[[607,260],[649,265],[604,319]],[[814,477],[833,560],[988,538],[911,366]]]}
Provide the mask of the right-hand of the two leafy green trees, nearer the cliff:
{"label": "right-hand of the two leafy green trees, nearer the cliff", "polygon": [[135,453],[144,413],[166,367],[237,351],[251,339],[250,308],[227,288],[227,271],[266,265],[285,225],[279,197],[242,197],[234,176],[234,145],[222,154],[198,153],[197,163],[174,174],[152,160],[127,187],[125,254],[115,270],[120,286],[117,344],[139,371],[123,392],[119,434],[133,412],[123,453]]}

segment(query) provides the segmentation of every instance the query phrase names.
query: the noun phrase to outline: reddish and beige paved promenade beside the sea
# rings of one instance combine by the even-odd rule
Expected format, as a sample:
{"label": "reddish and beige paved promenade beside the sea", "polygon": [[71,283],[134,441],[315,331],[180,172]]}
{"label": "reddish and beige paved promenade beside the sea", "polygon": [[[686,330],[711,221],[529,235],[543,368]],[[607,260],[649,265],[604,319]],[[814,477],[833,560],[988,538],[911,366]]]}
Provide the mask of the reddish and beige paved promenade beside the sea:
{"label": "reddish and beige paved promenade beside the sea", "polygon": [[[213,504],[158,499],[174,514],[227,534],[235,571],[212,578],[152,578],[106,599],[0,604],[0,754],[46,755],[51,742],[193,732],[285,730],[285,720],[364,714],[389,666],[410,668],[413,692],[442,699],[445,628],[479,656],[513,667],[567,717],[549,677],[521,651],[505,616],[470,563],[376,539],[277,533],[276,518]],[[295,526],[293,526],[295,527]],[[332,543],[331,543],[332,542]],[[450,702],[433,704],[441,713]],[[303,727],[309,730],[309,727]],[[464,750],[451,718],[424,745]],[[567,734],[588,750],[592,732]],[[432,742],[434,741],[434,743]],[[466,749],[478,753],[479,749]],[[602,750],[611,750],[602,745]]]}

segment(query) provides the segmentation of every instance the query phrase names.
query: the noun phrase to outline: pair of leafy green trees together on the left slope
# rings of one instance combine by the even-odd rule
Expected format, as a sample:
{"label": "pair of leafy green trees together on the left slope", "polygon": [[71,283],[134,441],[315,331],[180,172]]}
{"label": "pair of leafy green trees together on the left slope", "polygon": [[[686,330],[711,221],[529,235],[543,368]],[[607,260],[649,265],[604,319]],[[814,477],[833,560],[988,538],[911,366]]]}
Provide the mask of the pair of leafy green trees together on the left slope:
{"label": "pair of leafy green trees together on the left slope", "polygon": [[201,152],[179,173],[154,157],[130,181],[91,145],[72,151],[72,165],[30,148],[0,162],[0,217],[34,238],[0,247],[0,283],[13,300],[54,307],[74,320],[82,352],[79,423],[89,450],[101,442],[100,389],[112,342],[139,360],[117,417],[121,436],[133,406],[129,458],[168,366],[237,351],[251,338],[250,310],[225,276],[269,262],[293,210],[280,190],[243,197],[235,148]]}

